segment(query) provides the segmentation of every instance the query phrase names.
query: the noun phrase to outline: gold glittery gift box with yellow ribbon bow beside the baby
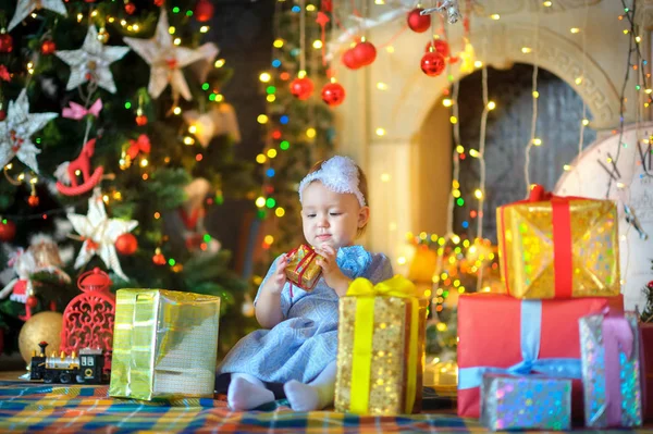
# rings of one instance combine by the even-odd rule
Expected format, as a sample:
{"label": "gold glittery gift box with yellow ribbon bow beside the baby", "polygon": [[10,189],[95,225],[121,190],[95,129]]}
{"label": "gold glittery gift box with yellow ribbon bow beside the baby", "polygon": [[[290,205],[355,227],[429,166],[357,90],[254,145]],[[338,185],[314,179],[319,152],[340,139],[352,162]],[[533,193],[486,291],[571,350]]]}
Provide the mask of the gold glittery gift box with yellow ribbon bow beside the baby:
{"label": "gold glittery gift box with yellow ribbon bow beside the baby", "polygon": [[421,410],[427,299],[396,275],[357,278],[340,299],[335,410],[409,414]]}

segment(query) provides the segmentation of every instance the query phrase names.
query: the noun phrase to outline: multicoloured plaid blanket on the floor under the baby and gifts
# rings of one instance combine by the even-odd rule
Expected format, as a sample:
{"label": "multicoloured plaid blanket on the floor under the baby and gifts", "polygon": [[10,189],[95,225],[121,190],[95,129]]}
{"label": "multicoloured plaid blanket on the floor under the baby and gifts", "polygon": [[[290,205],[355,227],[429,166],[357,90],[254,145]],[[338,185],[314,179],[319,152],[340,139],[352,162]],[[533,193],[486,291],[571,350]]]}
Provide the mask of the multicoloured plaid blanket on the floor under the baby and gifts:
{"label": "multicoloured plaid blanket on the floor under the baby and gifts", "polygon": [[458,418],[451,410],[357,417],[333,411],[293,412],[284,401],[261,410],[268,411],[233,412],[223,399],[168,402],[114,399],[108,397],[108,387],[102,386],[0,383],[0,433],[485,432],[478,421]]}

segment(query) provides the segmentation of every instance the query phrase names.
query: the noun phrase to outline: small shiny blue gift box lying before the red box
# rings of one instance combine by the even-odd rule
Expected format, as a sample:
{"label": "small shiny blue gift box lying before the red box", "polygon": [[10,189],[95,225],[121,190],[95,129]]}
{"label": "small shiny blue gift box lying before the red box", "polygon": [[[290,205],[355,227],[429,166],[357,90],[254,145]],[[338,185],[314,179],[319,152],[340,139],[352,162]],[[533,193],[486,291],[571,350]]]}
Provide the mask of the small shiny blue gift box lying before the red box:
{"label": "small shiny blue gift box lying before the red box", "polygon": [[571,380],[485,373],[481,423],[490,430],[569,430]]}

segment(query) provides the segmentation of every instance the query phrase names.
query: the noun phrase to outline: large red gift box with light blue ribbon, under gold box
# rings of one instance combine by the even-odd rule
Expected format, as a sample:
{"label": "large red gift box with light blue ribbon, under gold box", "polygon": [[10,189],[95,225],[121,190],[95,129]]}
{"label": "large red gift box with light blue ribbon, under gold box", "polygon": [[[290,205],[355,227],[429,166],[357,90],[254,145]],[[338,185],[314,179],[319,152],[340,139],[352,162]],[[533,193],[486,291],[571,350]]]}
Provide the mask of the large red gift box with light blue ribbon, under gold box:
{"label": "large red gift box with light blue ribbon, under gold box", "polygon": [[[576,367],[574,361],[576,359],[577,373],[580,375],[578,320],[581,317],[599,313],[606,307],[623,311],[624,298],[617,296],[520,300],[507,295],[486,293],[460,296],[458,300],[458,416],[479,417],[479,381],[482,379],[482,368],[505,372],[508,368],[516,368],[523,362],[522,321],[529,324],[537,323],[538,326],[531,330],[540,331],[539,350],[533,350],[537,354],[537,358],[533,359],[537,360],[535,365],[549,364],[552,371],[545,373],[551,374],[558,367]],[[522,318],[522,310],[525,318]],[[530,345],[532,346],[532,343]],[[522,363],[521,368],[528,364]],[[526,370],[529,371],[528,368]],[[575,411],[582,411],[580,380],[574,381],[572,397]]]}

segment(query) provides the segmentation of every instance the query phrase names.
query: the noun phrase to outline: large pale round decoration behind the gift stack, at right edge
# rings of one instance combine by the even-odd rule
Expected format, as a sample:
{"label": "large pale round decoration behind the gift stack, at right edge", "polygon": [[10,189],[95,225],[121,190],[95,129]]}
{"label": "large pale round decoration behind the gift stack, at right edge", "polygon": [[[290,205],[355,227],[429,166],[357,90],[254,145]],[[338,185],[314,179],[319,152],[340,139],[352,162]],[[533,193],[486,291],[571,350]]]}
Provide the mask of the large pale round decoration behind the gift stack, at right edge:
{"label": "large pale round decoration behind the gift stack, at right edge", "polygon": [[[651,134],[653,123],[648,123],[625,128],[620,142],[618,134],[596,140],[569,163],[570,170],[563,174],[554,190],[559,196],[607,198],[617,202],[621,293],[626,309],[633,310],[634,306],[638,306],[640,312],[645,307],[642,289],[653,280],[653,156],[649,142]],[[611,161],[615,160],[613,165]],[[613,181],[608,194],[611,178]]]}

